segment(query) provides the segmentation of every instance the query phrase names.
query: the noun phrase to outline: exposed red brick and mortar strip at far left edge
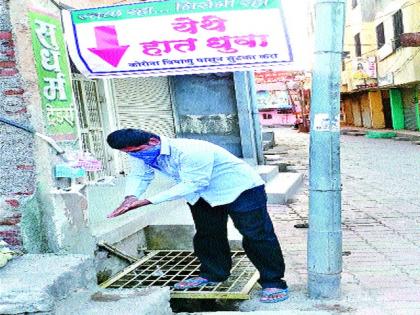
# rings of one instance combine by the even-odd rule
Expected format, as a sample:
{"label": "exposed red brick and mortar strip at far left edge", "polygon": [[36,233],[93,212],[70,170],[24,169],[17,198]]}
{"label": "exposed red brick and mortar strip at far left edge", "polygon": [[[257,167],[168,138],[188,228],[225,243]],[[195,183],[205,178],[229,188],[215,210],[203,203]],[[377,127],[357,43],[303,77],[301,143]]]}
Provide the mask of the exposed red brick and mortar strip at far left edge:
{"label": "exposed red brick and mortar strip at far left edge", "polygon": [[[0,116],[29,125],[8,3],[0,0]],[[0,122],[0,240],[19,249],[21,209],[35,190],[33,147],[32,135]]]}

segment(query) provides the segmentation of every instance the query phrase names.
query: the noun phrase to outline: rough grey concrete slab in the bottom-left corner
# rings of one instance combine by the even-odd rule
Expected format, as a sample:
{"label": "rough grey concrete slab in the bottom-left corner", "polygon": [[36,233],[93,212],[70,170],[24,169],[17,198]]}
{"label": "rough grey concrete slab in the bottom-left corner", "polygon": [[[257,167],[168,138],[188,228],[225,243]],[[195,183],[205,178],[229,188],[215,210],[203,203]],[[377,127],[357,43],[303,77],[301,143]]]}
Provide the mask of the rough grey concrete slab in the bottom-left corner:
{"label": "rough grey concrete slab in the bottom-left corner", "polygon": [[93,260],[84,255],[24,255],[0,269],[0,314],[45,312],[96,283]]}

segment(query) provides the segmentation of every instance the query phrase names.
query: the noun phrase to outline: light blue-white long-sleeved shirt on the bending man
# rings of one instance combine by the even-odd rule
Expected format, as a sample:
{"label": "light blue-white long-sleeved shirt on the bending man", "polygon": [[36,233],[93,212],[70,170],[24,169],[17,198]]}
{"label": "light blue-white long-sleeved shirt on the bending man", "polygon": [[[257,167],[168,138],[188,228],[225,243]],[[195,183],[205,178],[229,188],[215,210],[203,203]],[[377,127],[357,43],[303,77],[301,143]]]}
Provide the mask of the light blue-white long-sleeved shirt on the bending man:
{"label": "light blue-white long-sleeved shirt on the bending man", "polygon": [[141,197],[156,170],[175,185],[147,199],[153,204],[185,198],[195,204],[201,197],[212,207],[233,202],[243,191],[264,184],[258,173],[227,150],[207,141],[161,136],[161,151],[153,167],[129,156],[131,172],[125,195]]}

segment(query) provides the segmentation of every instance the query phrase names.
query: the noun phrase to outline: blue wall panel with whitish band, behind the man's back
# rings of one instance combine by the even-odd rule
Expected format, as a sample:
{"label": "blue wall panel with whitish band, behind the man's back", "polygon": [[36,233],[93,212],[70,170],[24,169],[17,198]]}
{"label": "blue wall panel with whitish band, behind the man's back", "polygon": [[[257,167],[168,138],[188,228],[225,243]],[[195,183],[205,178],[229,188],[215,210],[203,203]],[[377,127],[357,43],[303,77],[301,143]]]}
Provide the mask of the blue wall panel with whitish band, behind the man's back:
{"label": "blue wall panel with whitish band, behind the man's back", "polygon": [[232,73],[171,78],[177,136],[214,142],[242,156]]}

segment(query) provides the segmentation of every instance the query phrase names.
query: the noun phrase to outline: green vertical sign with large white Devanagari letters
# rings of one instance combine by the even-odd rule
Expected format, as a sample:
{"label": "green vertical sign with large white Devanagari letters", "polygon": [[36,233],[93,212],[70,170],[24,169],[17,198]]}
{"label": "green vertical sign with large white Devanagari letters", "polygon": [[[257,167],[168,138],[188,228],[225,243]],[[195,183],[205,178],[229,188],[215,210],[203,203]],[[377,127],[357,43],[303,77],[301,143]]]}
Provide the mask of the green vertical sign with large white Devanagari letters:
{"label": "green vertical sign with large white Devanagari letters", "polygon": [[47,133],[58,141],[76,140],[76,113],[61,21],[35,11],[29,12],[29,21]]}

